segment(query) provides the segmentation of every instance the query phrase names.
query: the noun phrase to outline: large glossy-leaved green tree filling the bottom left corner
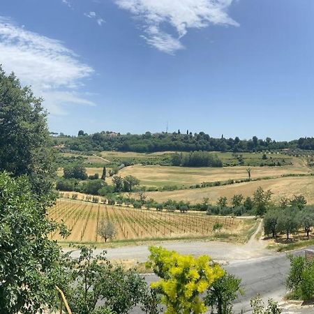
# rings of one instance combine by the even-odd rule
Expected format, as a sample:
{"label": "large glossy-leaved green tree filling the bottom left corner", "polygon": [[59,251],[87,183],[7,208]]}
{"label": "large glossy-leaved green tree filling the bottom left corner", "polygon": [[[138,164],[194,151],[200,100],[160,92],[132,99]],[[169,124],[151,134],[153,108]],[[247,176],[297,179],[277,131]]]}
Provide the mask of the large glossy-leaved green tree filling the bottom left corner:
{"label": "large glossy-leaved green tree filling the bottom left corner", "polygon": [[1,314],[35,314],[54,308],[55,285],[63,287],[61,251],[49,239],[62,226],[47,219],[50,197],[33,197],[27,177],[0,174],[0,308]]}

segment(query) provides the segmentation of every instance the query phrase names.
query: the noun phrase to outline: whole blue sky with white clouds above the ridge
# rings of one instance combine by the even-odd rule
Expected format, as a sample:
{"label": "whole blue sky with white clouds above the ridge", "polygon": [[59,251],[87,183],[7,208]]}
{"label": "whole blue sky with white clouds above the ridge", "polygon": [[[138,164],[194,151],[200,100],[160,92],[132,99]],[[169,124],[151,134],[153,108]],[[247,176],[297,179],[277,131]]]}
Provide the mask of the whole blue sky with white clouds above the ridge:
{"label": "whole blue sky with white clouds above the ridge", "polygon": [[50,130],[313,136],[314,1],[1,0],[0,63]]}

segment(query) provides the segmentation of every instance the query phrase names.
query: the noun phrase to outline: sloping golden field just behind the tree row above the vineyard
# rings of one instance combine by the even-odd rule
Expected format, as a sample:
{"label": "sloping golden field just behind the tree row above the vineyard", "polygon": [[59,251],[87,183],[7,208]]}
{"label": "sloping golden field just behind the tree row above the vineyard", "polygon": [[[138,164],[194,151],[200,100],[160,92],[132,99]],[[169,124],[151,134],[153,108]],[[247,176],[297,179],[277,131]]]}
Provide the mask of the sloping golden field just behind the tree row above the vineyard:
{"label": "sloping golden field just behind the tree row above the vineyard", "polygon": [[273,200],[275,201],[283,196],[292,197],[293,195],[302,194],[306,197],[308,204],[314,204],[314,176],[285,177],[264,181],[244,182],[227,186],[195,188],[193,190],[147,192],[146,195],[147,198],[153,198],[158,202],[172,199],[186,200],[196,203],[201,202],[204,197],[209,197],[210,202],[215,203],[220,196],[226,196],[228,200],[230,200],[234,194],[239,193],[243,194],[245,197],[252,196],[259,186],[262,186],[264,189],[270,189],[274,193]]}

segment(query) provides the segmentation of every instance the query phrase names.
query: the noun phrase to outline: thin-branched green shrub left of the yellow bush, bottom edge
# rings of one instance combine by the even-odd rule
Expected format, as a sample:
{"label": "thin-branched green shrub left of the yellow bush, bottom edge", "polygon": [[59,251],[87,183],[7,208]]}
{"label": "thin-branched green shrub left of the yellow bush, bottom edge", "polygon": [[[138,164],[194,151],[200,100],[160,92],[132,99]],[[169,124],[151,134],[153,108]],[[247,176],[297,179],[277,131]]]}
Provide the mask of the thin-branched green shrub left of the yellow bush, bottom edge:
{"label": "thin-branched green shrub left of the yellow bush, bottom edge", "polygon": [[105,253],[94,255],[94,248],[80,246],[79,250],[80,257],[70,260],[68,267],[75,283],[67,294],[73,313],[124,314],[145,304],[149,289],[142,276],[133,269],[114,267]]}

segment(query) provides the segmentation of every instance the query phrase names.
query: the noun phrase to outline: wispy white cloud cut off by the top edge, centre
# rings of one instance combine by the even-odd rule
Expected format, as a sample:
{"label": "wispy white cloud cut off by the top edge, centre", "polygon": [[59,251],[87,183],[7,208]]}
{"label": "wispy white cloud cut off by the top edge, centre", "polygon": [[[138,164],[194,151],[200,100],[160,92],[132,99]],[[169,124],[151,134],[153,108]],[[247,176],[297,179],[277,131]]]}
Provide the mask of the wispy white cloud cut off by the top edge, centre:
{"label": "wispy white cloud cut off by the top edge, centre", "polygon": [[[183,49],[180,39],[188,29],[200,29],[209,24],[239,24],[227,14],[233,0],[115,0],[119,8],[129,10],[144,22],[147,43],[162,52],[174,54]],[[174,28],[175,36],[164,31]]]}

